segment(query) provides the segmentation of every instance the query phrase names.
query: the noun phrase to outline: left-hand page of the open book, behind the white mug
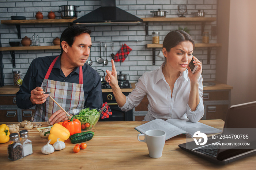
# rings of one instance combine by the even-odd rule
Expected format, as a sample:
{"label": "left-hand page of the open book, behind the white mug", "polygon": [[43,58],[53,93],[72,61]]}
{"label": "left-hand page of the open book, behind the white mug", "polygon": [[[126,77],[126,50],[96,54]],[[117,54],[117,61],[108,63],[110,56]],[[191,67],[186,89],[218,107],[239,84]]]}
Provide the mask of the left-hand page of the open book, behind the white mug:
{"label": "left-hand page of the open book, behind the white mug", "polygon": [[166,133],[165,140],[170,139],[174,136],[186,133],[184,130],[177,128],[176,126],[169,124],[162,119],[155,119],[155,120],[149,121],[143,125],[137,126],[135,129],[143,134],[145,134],[145,132],[148,130],[164,131]]}

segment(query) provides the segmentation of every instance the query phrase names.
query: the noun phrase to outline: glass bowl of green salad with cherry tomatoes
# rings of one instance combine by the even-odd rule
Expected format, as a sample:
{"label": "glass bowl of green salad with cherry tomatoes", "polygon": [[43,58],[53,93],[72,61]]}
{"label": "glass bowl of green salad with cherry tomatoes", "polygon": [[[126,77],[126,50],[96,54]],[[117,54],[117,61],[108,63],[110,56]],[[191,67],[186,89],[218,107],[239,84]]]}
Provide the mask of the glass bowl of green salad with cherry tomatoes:
{"label": "glass bowl of green salad with cherry tomatoes", "polygon": [[97,124],[101,116],[101,110],[97,108],[78,108],[68,111],[68,114],[75,116],[73,119],[80,120],[82,130],[90,130]]}

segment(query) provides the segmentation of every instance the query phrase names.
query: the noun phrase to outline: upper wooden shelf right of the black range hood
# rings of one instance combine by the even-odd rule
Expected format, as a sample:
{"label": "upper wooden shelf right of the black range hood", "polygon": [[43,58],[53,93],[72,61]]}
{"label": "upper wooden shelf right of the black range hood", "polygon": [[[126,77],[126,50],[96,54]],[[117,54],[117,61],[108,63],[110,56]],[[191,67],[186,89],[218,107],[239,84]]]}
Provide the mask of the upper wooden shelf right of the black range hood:
{"label": "upper wooden shelf right of the black range hood", "polygon": [[177,17],[177,18],[165,18],[165,17],[153,17],[142,18],[143,22],[213,22],[216,18],[209,17]]}

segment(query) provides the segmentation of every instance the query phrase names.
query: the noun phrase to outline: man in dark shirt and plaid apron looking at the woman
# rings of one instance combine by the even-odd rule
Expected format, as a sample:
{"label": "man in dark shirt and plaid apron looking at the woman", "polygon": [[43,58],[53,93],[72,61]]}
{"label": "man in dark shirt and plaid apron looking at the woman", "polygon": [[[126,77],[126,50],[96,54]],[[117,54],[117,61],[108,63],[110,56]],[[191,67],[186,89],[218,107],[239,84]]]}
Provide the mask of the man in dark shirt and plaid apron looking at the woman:
{"label": "man in dark shirt and plaid apron looking at the woman", "polygon": [[16,102],[22,109],[35,106],[32,121],[49,120],[50,124],[54,124],[68,120],[65,112],[53,103],[49,95],[65,111],[102,107],[100,76],[84,64],[92,46],[90,33],[87,27],[70,26],[61,34],[59,56],[39,57],[31,62]]}

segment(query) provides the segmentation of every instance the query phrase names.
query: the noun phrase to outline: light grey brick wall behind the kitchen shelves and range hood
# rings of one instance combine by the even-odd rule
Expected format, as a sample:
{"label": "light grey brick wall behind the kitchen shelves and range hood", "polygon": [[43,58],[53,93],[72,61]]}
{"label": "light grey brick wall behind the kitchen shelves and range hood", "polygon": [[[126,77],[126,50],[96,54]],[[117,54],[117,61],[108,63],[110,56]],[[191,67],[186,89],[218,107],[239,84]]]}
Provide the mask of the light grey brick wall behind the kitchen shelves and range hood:
{"label": "light grey brick wall behind the kitchen shelves and range hood", "polygon": [[[140,18],[151,17],[150,11],[155,11],[158,8],[167,11],[166,17],[177,17],[177,5],[187,4],[187,17],[192,17],[191,12],[196,12],[202,9],[207,12],[206,17],[216,17],[217,0],[116,0],[117,7],[132,13]],[[48,19],[49,11],[54,11],[56,19],[59,19],[61,14],[58,13],[59,5],[79,5],[78,18],[86,13],[97,9],[100,6],[99,0],[0,0],[0,19],[10,20],[11,16],[26,16],[27,19],[35,19],[36,12],[40,11],[44,15],[44,19]],[[69,25],[64,24],[22,24],[21,37],[38,35],[41,46],[52,45],[52,40],[60,37],[61,32]],[[216,22],[206,23],[205,31],[211,33],[211,26],[216,26]],[[149,35],[153,31],[160,32],[160,43],[163,42],[165,35],[177,30],[178,27],[187,27],[190,30],[192,38],[196,43],[202,42],[201,23],[194,22],[150,22]],[[130,82],[137,82],[138,78],[146,71],[157,69],[163,62],[162,58],[156,56],[156,65],[152,65],[152,49],[146,48],[146,44],[151,43],[151,36],[145,36],[145,24],[139,26],[89,26],[93,31],[91,38],[93,47],[91,48],[91,59],[93,60],[92,67],[94,69],[110,69],[111,64],[103,66],[98,64],[96,60],[99,58],[99,42],[114,40],[114,54],[121,48],[122,43],[126,43],[131,47],[132,51],[123,63],[115,63],[117,71],[129,73],[128,79]],[[0,42],[2,47],[9,47],[9,41],[20,41],[17,37],[15,25],[0,24]],[[139,42],[131,41],[139,40]],[[116,42],[120,41],[120,42]],[[210,43],[216,43],[217,38],[210,36]],[[103,42],[103,44],[105,44]],[[110,61],[112,42],[107,42],[107,55]],[[22,45],[20,45],[22,46]],[[156,49],[156,54],[160,49]],[[11,55],[9,51],[1,51],[3,60],[3,73],[5,85],[12,85],[12,71],[20,70],[23,75],[26,73],[30,62],[36,57],[46,55],[57,55],[59,50],[35,50],[35,51],[15,51],[16,68],[12,68]],[[216,64],[216,48],[212,48],[210,65],[207,65],[207,49],[196,48],[193,53],[199,60],[203,62],[203,78],[204,80],[215,80],[215,64]],[[102,47],[102,58],[105,59],[105,49]]]}

